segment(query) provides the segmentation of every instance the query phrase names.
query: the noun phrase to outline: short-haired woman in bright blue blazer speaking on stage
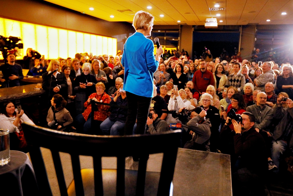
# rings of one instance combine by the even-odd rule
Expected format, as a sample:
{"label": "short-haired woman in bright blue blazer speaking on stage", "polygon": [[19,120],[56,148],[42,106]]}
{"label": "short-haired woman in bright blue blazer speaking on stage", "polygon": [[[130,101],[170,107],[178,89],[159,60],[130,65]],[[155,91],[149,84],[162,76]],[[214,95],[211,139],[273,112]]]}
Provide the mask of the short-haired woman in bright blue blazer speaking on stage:
{"label": "short-haired woman in bright blue blazer speaking on stage", "polygon": [[132,135],[137,119],[137,134],[144,134],[151,98],[153,97],[153,73],[158,69],[163,49],[160,46],[154,56],[154,43],[146,38],[151,36],[154,16],[145,11],[134,15],[132,26],[136,32],[127,38],[121,64],[124,66],[123,90],[127,95],[127,118],[124,135]]}

